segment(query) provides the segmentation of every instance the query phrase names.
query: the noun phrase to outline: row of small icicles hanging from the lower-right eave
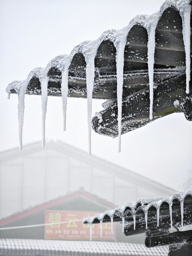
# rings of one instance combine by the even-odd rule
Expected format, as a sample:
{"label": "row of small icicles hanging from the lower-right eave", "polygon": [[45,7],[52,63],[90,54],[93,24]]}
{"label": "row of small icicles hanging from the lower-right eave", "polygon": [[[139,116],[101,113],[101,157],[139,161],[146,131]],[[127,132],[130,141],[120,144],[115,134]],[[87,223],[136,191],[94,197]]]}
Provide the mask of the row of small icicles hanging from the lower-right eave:
{"label": "row of small icicles hanging from the lower-right eave", "polygon": [[[172,204],[173,204],[173,202],[171,202],[169,204],[171,230],[173,229]],[[183,210],[184,201],[183,200],[180,202],[180,205],[181,205],[181,225],[183,227],[183,214],[184,214],[184,210]],[[160,211],[160,206],[157,207],[157,227],[159,227],[159,211]],[[113,233],[113,216],[110,218],[111,218],[111,233]],[[145,212],[146,229],[147,229],[147,218],[148,218],[148,210]],[[134,222],[134,230],[135,230],[135,226],[136,226],[136,215],[135,214],[133,214],[133,222]],[[92,240],[92,223],[90,223],[89,226],[90,226],[90,241],[91,241]],[[103,227],[103,219],[100,220],[100,236],[101,237],[102,237],[102,227]],[[125,227],[125,217],[122,217],[123,233],[124,233],[124,227]]]}

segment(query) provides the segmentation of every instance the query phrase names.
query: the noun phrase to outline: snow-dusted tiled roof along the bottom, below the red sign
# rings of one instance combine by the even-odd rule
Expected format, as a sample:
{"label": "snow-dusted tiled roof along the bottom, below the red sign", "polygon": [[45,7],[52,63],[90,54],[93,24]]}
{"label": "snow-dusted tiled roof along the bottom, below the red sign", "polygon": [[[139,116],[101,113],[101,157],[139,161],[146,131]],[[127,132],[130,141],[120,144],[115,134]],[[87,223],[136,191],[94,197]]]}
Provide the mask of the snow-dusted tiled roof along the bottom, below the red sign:
{"label": "snow-dusted tiled roof along the bottom, below the red sign", "polygon": [[3,254],[10,250],[19,251],[57,251],[72,253],[88,253],[101,255],[140,255],[167,256],[169,247],[146,248],[141,244],[122,242],[88,242],[88,241],[54,241],[33,239],[0,239],[0,250]]}

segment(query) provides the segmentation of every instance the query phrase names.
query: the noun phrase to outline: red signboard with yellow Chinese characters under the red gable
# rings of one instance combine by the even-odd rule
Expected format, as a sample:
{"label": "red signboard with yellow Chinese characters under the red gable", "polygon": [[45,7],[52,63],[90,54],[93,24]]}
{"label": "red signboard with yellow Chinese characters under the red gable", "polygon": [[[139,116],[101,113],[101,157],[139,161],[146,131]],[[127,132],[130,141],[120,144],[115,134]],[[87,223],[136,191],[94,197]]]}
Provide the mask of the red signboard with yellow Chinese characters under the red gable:
{"label": "red signboard with yellow Chinese characters under the red gable", "polygon": [[[90,229],[88,224],[82,224],[82,219],[94,216],[98,212],[77,212],[77,211],[45,211],[45,223],[52,223],[45,226],[45,239],[64,240],[89,240]],[[81,220],[81,221],[78,221]],[[67,222],[57,224],[58,222]],[[100,236],[100,224],[92,225],[92,240],[114,240],[115,224],[113,233],[111,223],[103,223],[102,237]]]}

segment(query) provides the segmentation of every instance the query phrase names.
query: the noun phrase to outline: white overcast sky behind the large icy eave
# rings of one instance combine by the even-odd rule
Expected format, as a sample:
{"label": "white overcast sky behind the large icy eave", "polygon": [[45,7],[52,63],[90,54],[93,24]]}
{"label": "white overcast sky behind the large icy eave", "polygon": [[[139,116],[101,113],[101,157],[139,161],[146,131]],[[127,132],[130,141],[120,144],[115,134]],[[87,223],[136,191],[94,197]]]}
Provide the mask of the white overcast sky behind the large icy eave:
{"label": "white overcast sky behind the large icy eave", "polygon": [[[152,14],[163,0],[0,0],[0,151],[18,147],[17,96],[6,86],[26,79],[59,54],[69,54],[107,29],[121,29],[137,14]],[[93,101],[93,112],[102,100]],[[41,97],[25,98],[23,144],[41,140]],[[86,99],[68,98],[67,131],[62,131],[61,97],[49,97],[46,138],[87,150]],[[23,149],[25,150],[25,149]],[[117,139],[92,130],[92,154],[179,189],[192,167],[192,122],[182,113],[161,118]]]}

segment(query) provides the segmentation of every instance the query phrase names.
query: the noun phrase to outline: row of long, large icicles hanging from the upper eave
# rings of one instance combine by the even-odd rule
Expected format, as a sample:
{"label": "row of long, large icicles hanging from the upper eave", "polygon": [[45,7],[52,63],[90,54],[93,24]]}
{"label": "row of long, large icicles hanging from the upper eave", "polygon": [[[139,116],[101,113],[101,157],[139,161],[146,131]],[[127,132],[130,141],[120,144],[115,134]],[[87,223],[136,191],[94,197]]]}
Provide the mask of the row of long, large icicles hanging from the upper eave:
{"label": "row of long, large icicles hanging from the upper eave", "polygon": [[[186,56],[186,93],[189,93],[189,81],[190,81],[190,12],[191,5],[180,12],[182,17],[183,26],[183,40]],[[147,24],[146,29],[148,32],[148,72],[149,72],[149,89],[150,89],[150,114],[149,118],[153,119],[153,74],[154,74],[154,53],[155,53],[155,29],[158,24],[159,17],[153,16],[151,23]],[[138,22],[137,22],[138,23]],[[129,30],[131,27],[129,28]],[[118,106],[118,151],[121,151],[121,121],[122,121],[122,91],[123,91],[123,66],[124,66],[124,49],[126,45],[127,35],[122,36],[122,40],[114,42],[116,47],[116,69],[117,69],[117,106]],[[106,40],[103,38],[102,40]],[[90,49],[85,52],[86,61],[86,87],[87,87],[87,120],[88,120],[88,154],[91,154],[91,111],[92,111],[92,93],[94,86],[95,64],[94,59],[99,46],[98,41],[95,41],[95,45],[91,44]],[[62,96],[62,108],[63,108],[63,130],[66,129],[66,108],[67,108],[67,94],[68,94],[68,68],[70,63],[65,65],[62,70],[62,82],[61,82],[61,96]],[[47,74],[44,74],[41,79],[41,98],[42,98],[42,146],[45,145],[45,118],[47,107],[47,85],[49,78]],[[27,83],[27,84],[26,84]],[[23,128],[23,116],[24,116],[24,97],[26,88],[28,86],[28,80],[21,83],[22,90],[18,90],[18,119],[19,119],[19,149],[22,149],[22,128]],[[10,92],[9,92],[10,93]],[[8,96],[9,97],[9,96]]]}

